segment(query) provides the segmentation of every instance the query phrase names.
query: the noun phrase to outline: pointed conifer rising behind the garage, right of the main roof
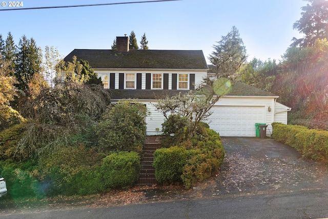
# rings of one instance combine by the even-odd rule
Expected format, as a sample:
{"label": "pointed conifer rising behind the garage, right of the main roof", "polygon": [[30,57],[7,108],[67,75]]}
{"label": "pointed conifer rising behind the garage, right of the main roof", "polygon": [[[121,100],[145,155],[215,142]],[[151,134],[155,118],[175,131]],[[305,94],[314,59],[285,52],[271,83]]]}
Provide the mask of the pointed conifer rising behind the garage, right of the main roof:
{"label": "pointed conifer rising behind the garage, right of the main roof", "polygon": [[237,73],[246,62],[247,54],[239,31],[235,26],[214,45],[214,51],[209,56],[210,62],[216,68],[216,77],[228,77]]}

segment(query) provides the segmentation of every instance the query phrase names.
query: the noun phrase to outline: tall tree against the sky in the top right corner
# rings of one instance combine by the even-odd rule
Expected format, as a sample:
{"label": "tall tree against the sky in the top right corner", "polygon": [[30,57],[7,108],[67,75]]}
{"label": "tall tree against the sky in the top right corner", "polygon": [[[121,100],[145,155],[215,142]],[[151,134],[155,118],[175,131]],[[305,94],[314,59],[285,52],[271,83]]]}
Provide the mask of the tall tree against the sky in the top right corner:
{"label": "tall tree against the sky in the top right corner", "polygon": [[293,28],[304,34],[303,38],[294,37],[291,46],[313,47],[316,39],[328,38],[328,2],[325,0],[306,0],[302,9],[302,17],[296,21]]}

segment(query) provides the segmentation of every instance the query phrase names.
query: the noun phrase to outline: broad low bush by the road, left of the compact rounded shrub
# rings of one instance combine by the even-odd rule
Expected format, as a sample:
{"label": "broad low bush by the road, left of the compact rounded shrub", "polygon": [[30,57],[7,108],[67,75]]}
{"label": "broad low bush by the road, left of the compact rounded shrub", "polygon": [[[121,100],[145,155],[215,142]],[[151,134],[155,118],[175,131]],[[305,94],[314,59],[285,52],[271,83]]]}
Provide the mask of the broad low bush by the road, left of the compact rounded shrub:
{"label": "broad low bush by the road, left of the compact rounded shrub", "polygon": [[[81,194],[80,192],[86,194],[90,183],[95,185],[93,187],[101,188],[97,177],[91,182],[82,182],[88,180],[87,174],[95,176],[92,172],[100,163],[101,157],[94,149],[88,150],[83,146],[56,147],[52,152],[40,157],[39,170],[35,172],[35,176],[48,195],[72,195]],[[82,185],[87,188],[81,187]]]}

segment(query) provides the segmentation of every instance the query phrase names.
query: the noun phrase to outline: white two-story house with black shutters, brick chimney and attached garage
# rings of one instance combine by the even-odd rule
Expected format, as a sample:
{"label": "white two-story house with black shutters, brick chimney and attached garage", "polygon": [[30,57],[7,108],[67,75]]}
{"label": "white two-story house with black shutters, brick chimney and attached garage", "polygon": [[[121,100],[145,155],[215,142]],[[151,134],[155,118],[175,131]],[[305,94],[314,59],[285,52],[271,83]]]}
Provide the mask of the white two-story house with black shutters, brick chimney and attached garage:
{"label": "white two-story house with black shutters, brick chimney and attached garage", "polygon": [[[164,116],[155,108],[161,96],[195,89],[208,74],[201,50],[130,50],[129,37],[116,37],[116,50],[74,49],[64,60],[83,59],[111,89],[111,103],[138,99],[151,112],[147,135],[161,134]],[[255,136],[255,123],[287,122],[290,108],[276,102],[278,96],[236,83],[212,108],[209,125],[221,136]]]}

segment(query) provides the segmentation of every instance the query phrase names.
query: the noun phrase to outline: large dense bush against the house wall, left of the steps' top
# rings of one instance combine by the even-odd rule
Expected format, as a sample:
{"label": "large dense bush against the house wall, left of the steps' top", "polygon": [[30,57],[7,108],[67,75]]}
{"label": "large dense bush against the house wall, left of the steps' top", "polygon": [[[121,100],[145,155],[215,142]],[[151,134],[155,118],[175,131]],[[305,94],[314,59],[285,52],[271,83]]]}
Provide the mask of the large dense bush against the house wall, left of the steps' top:
{"label": "large dense bush against the house wall, left of the steps' top", "polygon": [[145,105],[136,102],[111,104],[96,128],[99,147],[141,153],[146,138],[146,112]]}

